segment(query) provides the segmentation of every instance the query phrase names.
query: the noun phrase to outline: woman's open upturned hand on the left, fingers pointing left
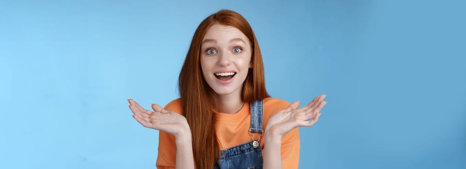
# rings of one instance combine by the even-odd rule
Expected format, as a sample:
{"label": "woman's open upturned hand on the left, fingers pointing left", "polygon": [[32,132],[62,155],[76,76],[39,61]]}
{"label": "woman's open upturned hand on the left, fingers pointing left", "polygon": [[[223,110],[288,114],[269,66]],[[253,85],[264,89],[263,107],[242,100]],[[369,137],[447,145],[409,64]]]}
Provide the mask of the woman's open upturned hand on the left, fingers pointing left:
{"label": "woman's open upturned hand on the left, fingers pointing left", "polygon": [[173,111],[167,111],[157,104],[152,104],[152,111],[145,110],[133,99],[128,99],[129,109],[134,113],[133,118],[147,128],[167,132],[176,138],[181,135],[191,135],[186,118]]}

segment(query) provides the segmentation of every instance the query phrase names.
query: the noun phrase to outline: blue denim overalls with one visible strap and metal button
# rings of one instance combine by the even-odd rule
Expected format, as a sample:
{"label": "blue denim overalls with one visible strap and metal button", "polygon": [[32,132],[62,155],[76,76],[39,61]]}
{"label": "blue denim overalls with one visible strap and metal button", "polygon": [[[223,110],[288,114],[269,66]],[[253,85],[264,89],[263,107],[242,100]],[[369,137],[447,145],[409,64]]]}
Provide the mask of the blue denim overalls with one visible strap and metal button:
{"label": "blue denim overalls with one visible strap and metal button", "polygon": [[[264,162],[258,142],[259,137],[264,135],[264,130],[262,130],[262,110],[262,100],[251,103],[249,134],[252,135],[252,141],[222,150],[215,169],[262,169]],[[254,136],[254,133],[259,134]]]}

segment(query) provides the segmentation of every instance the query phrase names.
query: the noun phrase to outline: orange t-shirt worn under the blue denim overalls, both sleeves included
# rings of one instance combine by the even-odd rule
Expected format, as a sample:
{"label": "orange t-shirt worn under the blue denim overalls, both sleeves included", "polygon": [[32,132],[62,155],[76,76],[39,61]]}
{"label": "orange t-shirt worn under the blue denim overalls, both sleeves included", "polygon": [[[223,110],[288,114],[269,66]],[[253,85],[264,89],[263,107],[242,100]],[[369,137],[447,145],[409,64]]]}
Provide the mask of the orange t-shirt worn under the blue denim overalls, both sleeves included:
{"label": "orange t-shirt worn under the blue denim overalls, both sleeves included", "polygon": [[[289,103],[282,99],[266,98],[263,100],[263,123],[262,129],[267,126],[267,120],[274,113],[283,110],[289,106]],[[165,106],[166,110],[181,112],[181,100],[176,99]],[[251,124],[250,104],[244,102],[243,107],[238,113],[215,113],[215,132],[219,141],[221,150],[234,147],[245,142],[252,141],[249,134]],[[264,135],[267,134],[265,131]],[[257,133],[254,139],[257,139]],[[264,136],[260,137],[260,147],[264,155]],[[299,163],[299,131],[295,128],[282,137],[281,156],[283,168],[297,169]],[[267,149],[266,149],[267,150]],[[176,164],[177,147],[175,137],[163,131],[159,131],[159,155],[157,157],[158,169],[174,169]]]}

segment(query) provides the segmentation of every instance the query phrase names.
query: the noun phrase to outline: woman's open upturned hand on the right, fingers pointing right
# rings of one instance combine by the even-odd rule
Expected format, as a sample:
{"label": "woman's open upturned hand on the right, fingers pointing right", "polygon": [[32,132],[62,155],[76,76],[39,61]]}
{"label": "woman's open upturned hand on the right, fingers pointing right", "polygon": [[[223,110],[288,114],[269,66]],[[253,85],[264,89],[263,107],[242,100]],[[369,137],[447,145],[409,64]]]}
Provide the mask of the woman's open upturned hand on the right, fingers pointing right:
{"label": "woman's open upturned hand on the right, fingers pointing right", "polygon": [[319,120],[321,115],[319,111],[327,104],[327,101],[323,101],[325,96],[320,95],[299,109],[299,101],[291,103],[288,108],[273,114],[269,118],[265,132],[283,136],[295,127],[311,127]]}

